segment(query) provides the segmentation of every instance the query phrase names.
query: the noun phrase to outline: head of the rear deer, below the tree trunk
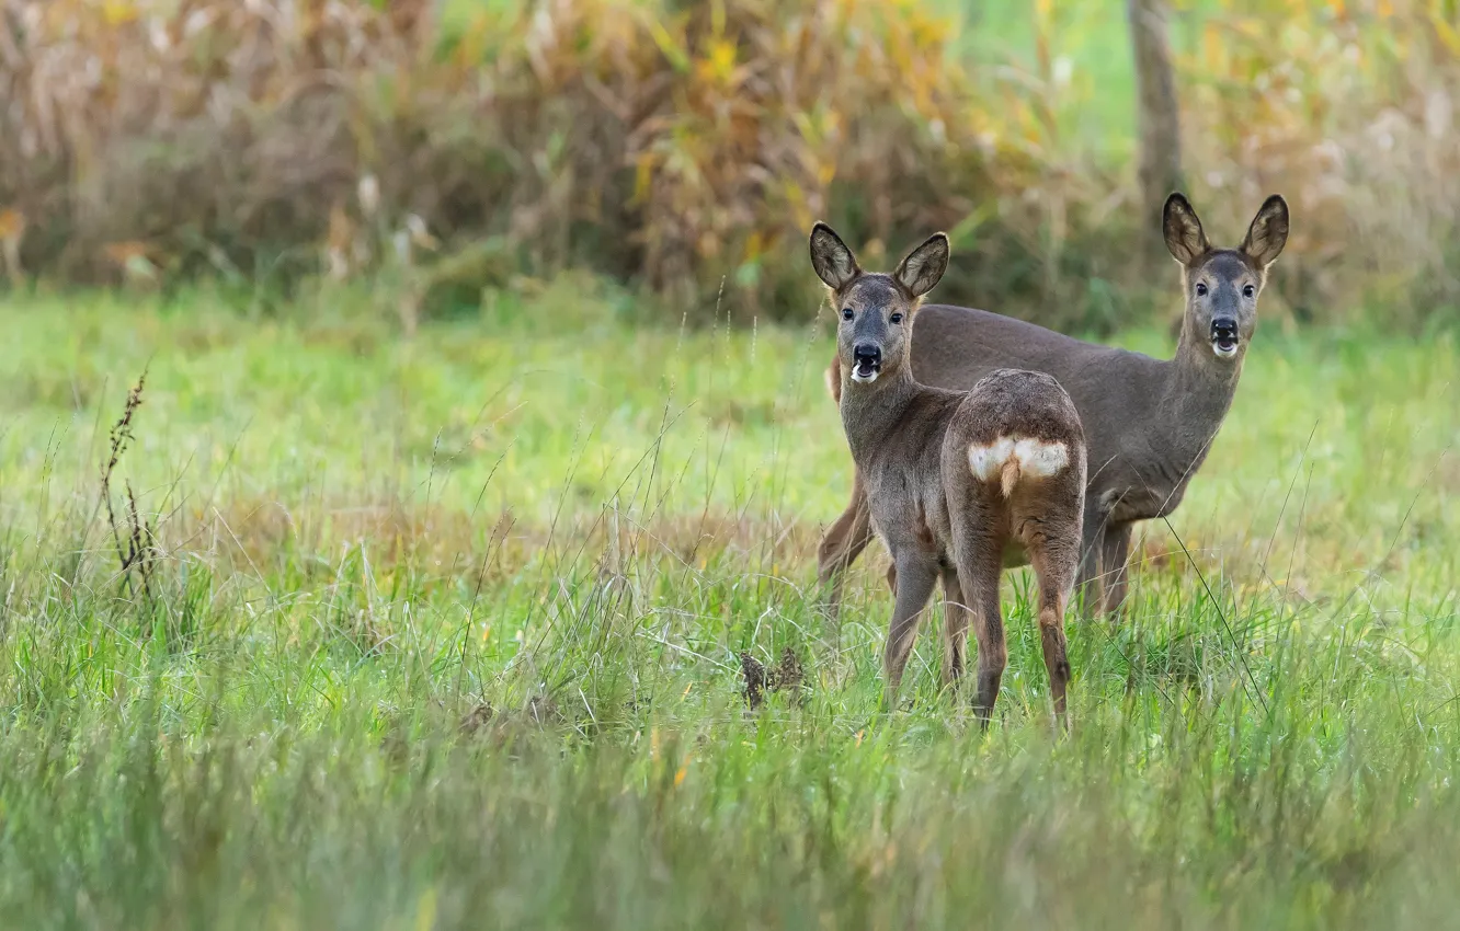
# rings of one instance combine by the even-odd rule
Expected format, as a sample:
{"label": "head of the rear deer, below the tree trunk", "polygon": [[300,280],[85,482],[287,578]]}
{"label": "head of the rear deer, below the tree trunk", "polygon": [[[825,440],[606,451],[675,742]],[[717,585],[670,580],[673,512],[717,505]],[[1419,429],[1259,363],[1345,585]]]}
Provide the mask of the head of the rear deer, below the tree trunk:
{"label": "head of the rear deer, below the tree trunk", "polygon": [[1278,194],[1263,201],[1235,250],[1212,248],[1202,220],[1181,194],[1167,198],[1162,228],[1186,286],[1181,341],[1210,343],[1219,363],[1241,360],[1257,328],[1257,296],[1267,267],[1288,242],[1288,203]]}

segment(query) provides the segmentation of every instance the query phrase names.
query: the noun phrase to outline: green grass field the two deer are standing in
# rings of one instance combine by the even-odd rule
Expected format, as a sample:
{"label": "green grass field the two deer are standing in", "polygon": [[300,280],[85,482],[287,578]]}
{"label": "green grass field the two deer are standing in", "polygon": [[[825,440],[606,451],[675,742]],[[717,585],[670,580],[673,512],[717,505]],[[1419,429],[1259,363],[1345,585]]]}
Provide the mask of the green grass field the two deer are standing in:
{"label": "green grass field the two deer are standing in", "polygon": [[[588,292],[409,343],[0,304],[6,924],[1453,924],[1454,339],[1260,331],[1129,616],[1070,625],[1072,735],[1021,571],[981,738],[930,627],[876,714],[880,550],[816,609],[828,330]],[[739,654],[787,648],[803,689],[746,709]]]}

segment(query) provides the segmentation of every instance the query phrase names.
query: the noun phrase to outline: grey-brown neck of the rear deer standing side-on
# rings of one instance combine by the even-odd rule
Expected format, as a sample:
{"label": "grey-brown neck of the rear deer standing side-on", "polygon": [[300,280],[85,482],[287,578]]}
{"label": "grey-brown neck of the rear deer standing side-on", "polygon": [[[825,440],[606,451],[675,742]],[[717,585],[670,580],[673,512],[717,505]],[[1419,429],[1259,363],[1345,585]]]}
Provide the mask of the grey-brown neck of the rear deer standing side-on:
{"label": "grey-brown neck of the rear deer standing side-on", "polygon": [[1190,327],[1181,330],[1177,355],[1167,363],[1167,384],[1158,417],[1165,433],[1158,448],[1165,451],[1172,473],[1190,476],[1206,458],[1212,439],[1222,428],[1242,375],[1242,355],[1218,359],[1210,340]]}

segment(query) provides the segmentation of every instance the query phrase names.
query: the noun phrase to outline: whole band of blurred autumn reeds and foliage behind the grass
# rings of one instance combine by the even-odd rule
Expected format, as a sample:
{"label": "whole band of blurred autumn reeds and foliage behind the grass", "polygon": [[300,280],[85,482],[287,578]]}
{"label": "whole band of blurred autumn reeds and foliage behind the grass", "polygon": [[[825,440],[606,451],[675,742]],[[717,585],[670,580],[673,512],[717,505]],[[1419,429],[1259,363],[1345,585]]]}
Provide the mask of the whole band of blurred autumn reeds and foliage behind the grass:
{"label": "whole band of blurred autumn reeds and foliage behind the grass", "polygon": [[[1209,231],[1235,241],[1266,193],[1292,203],[1278,312],[1381,304],[1419,325],[1453,306],[1454,3],[1174,6]],[[1172,290],[1142,286],[1132,231],[1158,220],[1129,147],[1069,131],[1134,96],[1073,73],[1064,4],[1031,4],[1022,58],[914,0],[0,10],[12,282],[368,276],[399,285],[410,327],[518,271],[588,267],[676,321],[804,317],[802,238],[825,217],[867,264],[948,229],[940,299],[1051,325],[1108,328]]]}

